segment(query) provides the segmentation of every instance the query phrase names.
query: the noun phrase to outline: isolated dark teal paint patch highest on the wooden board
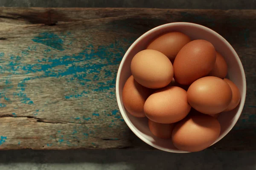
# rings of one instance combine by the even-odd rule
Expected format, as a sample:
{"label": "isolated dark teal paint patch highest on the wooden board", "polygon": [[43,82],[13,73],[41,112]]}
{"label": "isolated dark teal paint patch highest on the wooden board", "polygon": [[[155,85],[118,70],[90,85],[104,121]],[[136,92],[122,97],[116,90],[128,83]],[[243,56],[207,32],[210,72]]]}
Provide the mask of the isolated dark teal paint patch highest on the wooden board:
{"label": "isolated dark teal paint patch highest on the wooden board", "polygon": [[32,41],[47,45],[60,51],[64,51],[63,40],[58,35],[50,32],[40,33],[38,37],[34,37]]}

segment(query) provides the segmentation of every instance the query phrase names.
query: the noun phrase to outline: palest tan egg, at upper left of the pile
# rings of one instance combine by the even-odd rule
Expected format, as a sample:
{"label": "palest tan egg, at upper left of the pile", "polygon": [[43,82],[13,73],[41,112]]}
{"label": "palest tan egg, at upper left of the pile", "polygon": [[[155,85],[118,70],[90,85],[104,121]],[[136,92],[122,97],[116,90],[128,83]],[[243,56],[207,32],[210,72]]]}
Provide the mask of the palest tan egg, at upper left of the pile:
{"label": "palest tan egg, at upper left of the pile", "polygon": [[132,59],[131,73],[138,83],[147,88],[163,88],[172,81],[173,67],[163,53],[143,50]]}

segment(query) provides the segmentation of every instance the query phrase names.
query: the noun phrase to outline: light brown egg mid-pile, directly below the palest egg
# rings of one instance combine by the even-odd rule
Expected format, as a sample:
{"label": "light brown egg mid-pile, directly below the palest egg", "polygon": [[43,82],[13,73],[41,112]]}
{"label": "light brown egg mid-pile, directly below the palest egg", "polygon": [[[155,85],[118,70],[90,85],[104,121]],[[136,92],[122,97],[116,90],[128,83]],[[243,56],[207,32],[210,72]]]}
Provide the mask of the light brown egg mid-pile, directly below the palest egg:
{"label": "light brown egg mid-pile, directly below the palest egg", "polygon": [[178,122],[186,117],[190,109],[186,91],[176,86],[155,91],[144,105],[145,115],[157,123]]}

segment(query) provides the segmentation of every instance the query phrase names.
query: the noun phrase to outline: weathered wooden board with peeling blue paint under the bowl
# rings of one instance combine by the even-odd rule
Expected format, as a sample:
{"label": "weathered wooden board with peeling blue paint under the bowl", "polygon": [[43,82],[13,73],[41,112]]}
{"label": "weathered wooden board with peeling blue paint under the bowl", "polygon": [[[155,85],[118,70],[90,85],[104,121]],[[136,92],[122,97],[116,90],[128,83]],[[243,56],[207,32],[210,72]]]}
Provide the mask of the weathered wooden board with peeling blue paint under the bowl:
{"label": "weathered wooden board with peeling blue paint under the bowl", "polygon": [[237,51],[247,99],[212,149],[256,149],[256,10],[0,8],[0,149],[151,149],[119,113],[115,81],[125,51],[171,22],[217,31]]}

